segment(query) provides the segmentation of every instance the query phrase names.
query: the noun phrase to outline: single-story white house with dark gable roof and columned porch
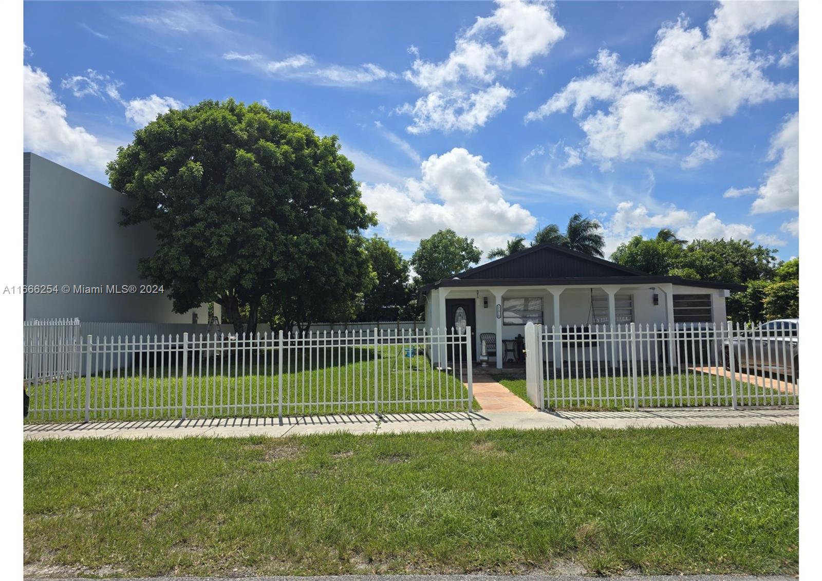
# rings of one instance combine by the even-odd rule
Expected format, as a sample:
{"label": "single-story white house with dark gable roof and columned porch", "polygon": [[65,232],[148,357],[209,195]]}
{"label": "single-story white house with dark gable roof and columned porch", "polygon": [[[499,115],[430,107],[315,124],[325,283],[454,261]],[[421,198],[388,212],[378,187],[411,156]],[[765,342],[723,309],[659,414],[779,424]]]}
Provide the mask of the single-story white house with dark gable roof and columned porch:
{"label": "single-story white house with dark gable roof and columned porch", "polygon": [[470,326],[473,359],[486,339],[501,368],[512,358],[510,340],[522,336],[529,321],[557,329],[630,323],[709,326],[727,320],[725,299],[744,289],[650,275],[546,242],[427,284],[420,295],[427,329],[464,332]]}

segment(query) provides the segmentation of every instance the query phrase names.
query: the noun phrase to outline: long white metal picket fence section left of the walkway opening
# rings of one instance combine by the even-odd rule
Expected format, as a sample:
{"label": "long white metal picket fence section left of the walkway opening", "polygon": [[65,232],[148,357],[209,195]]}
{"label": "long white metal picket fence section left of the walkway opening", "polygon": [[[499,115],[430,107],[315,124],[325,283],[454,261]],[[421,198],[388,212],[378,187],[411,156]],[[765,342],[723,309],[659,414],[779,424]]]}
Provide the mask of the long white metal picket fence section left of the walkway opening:
{"label": "long white metal picket fence section left of the walkway opening", "polygon": [[279,417],[466,410],[470,329],[132,335],[25,345],[82,361],[82,376],[27,377],[30,419]]}

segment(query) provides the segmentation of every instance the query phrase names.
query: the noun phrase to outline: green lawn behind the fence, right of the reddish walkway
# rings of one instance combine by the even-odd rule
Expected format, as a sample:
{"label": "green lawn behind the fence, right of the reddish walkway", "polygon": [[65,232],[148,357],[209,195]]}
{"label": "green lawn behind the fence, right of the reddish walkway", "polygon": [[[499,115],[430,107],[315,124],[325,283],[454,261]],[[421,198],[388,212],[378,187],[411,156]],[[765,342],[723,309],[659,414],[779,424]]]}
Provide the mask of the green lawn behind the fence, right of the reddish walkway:
{"label": "green lawn behind the fence, right of the reddish walkway", "polygon": [[[492,377],[533,405],[526,394],[524,377]],[[785,394],[771,390],[768,385],[767,380],[764,387],[738,381],[737,405],[799,403],[798,394],[796,399],[788,394],[786,401]],[[638,376],[637,390],[640,408],[732,404],[730,380],[709,373],[689,373],[687,378],[684,373],[681,376]],[[551,378],[545,381],[545,394],[552,409],[617,410],[634,407],[633,379],[630,376]]]}

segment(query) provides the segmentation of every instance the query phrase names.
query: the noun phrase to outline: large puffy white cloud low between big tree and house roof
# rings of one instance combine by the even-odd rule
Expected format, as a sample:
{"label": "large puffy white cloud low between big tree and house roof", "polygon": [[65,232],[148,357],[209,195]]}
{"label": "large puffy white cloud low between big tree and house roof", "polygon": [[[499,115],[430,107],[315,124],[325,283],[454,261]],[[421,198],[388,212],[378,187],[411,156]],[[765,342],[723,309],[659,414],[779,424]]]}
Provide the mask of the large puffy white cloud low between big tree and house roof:
{"label": "large puffy white cloud low between big tree and house roof", "polygon": [[363,184],[363,201],[394,239],[418,241],[453,228],[486,251],[537,224],[528,210],[505,201],[487,167],[482,157],[455,148],[424,160],[421,179],[407,179],[402,186]]}

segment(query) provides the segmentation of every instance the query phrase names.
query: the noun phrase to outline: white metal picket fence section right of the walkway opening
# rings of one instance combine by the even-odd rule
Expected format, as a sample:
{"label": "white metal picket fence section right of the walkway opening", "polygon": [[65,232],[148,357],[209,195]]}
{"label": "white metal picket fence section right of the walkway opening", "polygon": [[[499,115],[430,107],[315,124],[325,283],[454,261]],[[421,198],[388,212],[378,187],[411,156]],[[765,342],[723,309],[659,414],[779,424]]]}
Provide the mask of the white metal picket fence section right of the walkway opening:
{"label": "white metal picket fence section right of the walkway opening", "polygon": [[798,324],[774,327],[529,324],[527,392],[549,409],[796,404]]}

